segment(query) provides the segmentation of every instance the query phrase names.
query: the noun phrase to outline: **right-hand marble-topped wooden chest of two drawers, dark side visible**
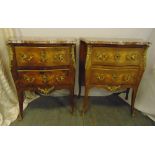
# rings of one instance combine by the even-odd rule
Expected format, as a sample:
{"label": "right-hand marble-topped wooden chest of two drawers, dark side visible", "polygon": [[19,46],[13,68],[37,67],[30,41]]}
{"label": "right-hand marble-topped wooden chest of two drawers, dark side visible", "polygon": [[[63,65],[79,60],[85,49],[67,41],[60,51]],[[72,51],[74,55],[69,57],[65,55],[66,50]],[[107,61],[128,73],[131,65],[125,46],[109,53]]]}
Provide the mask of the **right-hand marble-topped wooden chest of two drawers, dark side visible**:
{"label": "right-hand marble-topped wooden chest of two drawers, dark side visible", "polygon": [[[79,85],[85,86],[83,111],[92,87],[115,92],[132,88],[131,112],[146,61],[148,42],[81,39]],[[81,91],[80,91],[81,92]]]}

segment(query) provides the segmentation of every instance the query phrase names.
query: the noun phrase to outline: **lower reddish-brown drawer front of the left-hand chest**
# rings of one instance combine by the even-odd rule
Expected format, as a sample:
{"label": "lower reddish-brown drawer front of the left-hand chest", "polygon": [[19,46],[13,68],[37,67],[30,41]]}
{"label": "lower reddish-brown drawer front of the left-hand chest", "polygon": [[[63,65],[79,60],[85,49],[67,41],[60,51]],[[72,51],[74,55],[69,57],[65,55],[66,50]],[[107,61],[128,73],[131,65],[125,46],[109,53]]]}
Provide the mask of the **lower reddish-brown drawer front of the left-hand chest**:
{"label": "lower reddish-brown drawer front of the left-hand chest", "polygon": [[18,70],[20,84],[33,85],[61,85],[71,84],[72,77],[67,69],[56,70]]}

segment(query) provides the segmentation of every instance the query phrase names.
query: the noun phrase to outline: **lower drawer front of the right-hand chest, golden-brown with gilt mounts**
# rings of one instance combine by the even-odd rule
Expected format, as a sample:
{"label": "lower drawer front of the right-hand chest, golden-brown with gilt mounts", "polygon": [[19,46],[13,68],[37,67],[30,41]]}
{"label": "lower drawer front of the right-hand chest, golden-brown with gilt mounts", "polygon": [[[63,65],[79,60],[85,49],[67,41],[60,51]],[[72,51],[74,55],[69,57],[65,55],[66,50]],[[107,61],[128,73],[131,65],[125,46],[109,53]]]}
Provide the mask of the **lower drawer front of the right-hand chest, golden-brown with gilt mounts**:
{"label": "lower drawer front of the right-hand chest, golden-brown with gilt mounts", "polygon": [[132,85],[136,83],[137,77],[138,69],[92,68],[90,73],[90,83],[95,85]]}

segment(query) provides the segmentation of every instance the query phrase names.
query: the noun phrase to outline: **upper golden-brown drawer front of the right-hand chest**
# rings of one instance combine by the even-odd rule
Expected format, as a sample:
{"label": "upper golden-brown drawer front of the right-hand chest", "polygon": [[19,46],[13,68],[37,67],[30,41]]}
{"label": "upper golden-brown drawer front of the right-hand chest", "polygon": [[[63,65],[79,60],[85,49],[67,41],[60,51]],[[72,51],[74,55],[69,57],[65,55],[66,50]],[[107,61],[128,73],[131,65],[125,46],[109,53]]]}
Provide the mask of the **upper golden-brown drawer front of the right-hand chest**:
{"label": "upper golden-brown drawer front of the right-hand chest", "polygon": [[144,63],[142,48],[92,47],[92,65],[139,66]]}

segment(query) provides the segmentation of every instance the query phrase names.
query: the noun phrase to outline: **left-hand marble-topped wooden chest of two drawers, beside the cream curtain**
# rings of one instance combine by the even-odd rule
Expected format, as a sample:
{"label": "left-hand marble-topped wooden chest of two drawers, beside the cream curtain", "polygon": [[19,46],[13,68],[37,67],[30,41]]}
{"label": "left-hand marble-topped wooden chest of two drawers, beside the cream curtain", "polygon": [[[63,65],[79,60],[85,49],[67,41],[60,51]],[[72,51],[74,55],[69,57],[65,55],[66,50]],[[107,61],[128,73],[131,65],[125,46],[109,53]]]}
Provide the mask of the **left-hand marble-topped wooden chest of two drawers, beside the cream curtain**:
{"label": "left-hand marble-topped wooden chest of two drawers, beside the cream curtain", "polygon": [[9,40],[11,71],[22,118],[25,90],[48,94],[55,89],[69,89],[73,112],[75,43],[75,40],[56,39]]}

